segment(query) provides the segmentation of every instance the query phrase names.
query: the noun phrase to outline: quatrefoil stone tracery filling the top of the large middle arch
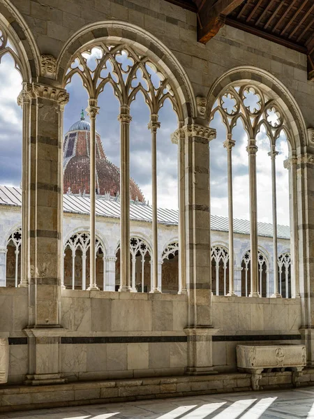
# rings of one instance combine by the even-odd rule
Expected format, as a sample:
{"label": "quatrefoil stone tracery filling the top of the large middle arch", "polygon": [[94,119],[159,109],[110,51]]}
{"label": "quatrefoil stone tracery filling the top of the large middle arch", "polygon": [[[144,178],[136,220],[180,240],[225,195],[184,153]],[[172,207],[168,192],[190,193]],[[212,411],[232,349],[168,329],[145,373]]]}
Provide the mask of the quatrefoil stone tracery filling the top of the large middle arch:
{"label": "quatrefoil stone tracery filling the top of the large middle arch", "polygon": [[98,98],[110,83],[121,105],[128,105],[141,92],[152,114],[158,114],[167,98],[178,113],[170,80],[148,57],[137,54],[129,45],[100,43],[78,52],[66,74],[65,84],[78,74],[90,98]]}

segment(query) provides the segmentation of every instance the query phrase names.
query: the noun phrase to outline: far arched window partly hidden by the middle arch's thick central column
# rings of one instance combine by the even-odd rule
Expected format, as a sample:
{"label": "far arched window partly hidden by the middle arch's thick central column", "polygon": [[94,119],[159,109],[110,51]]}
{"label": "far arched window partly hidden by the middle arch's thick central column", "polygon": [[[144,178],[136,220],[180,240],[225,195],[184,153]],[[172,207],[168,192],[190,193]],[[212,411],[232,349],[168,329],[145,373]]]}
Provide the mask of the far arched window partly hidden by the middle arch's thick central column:
{"label": "far arched window partly hidden by the middle arch's thick central column", "polygon": [[[120,278],[120,244],[116,251],[116,286]],[[132,291],[142,293],[151,289],[151,249],[139,237],[130,237],[130,263],[132,265]]]}

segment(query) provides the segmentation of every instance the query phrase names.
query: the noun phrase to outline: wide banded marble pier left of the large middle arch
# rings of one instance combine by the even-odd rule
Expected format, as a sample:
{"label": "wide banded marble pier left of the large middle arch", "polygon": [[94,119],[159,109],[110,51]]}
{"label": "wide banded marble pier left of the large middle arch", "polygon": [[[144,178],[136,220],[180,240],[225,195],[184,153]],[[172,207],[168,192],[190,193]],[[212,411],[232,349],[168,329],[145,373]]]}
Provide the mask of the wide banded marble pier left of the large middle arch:
{"label": "wide banded marble pier left of the large middle arch", "polygon": [[[44,79],[44,78],[43,78]],[[64,89],[33,83],[29,112],[27,272],[29,283],[29,373],[27,383],[63,383],[59,373],[62,243],[61,115],[68,103]],[[25,256],[24,256],[25,257]]]}

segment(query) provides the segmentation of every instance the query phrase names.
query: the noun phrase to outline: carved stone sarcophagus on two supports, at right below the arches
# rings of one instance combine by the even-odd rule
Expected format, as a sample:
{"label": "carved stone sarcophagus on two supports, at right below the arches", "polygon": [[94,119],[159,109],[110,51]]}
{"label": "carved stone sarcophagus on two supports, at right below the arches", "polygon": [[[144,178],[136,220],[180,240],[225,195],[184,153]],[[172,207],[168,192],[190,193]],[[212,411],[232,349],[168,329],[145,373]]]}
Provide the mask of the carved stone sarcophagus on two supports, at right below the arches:
{"label": "carved stone sarcophagus on two supports, at right below the arches", "polygon": [[285,368],[292,370],[292,383],[298,385],[298,378],[306,366],[304,345],[237,345],[237,367],[251,372],[253,390],[260,390],[262,371]]}

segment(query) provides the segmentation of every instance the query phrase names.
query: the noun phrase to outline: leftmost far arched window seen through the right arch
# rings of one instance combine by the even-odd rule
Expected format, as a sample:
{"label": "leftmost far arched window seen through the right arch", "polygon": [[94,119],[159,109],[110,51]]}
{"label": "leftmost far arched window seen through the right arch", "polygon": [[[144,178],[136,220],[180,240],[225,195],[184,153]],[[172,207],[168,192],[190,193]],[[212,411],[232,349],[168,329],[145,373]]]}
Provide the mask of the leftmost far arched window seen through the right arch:
{"label": "leftmost far arched window seen through the right arch", "polygon": [[225,247],[211,248],[211,290],[214,295],[227,295],[229,252]]}

